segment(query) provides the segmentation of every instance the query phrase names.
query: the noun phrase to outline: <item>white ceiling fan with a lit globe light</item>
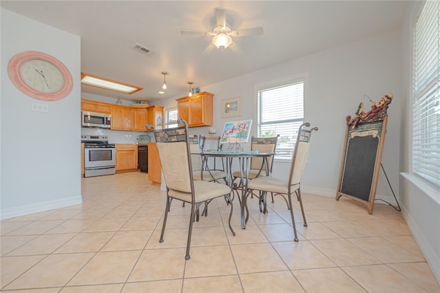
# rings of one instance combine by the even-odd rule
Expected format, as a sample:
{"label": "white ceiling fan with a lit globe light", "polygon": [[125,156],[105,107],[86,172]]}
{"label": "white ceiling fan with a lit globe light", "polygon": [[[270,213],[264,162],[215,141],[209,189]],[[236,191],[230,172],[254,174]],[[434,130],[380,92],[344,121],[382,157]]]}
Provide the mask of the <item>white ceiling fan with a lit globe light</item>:
{"label": "white ceiling fan with a lit globe light", "polygon": [[248,35],[261,35],[263,34],[263,28],[248,28],[245,30],[231,30],[229,23],[226,22],[225,10],[221,8],[214,8],[214,16],[217,26],[212,32],[203,32],[200,30],[181,30],[181,34],[187,35],[210,35],[212,37],[212,44],[218,47],[220,50],[225,50],[232,44],[232,36],[248,36]]}

